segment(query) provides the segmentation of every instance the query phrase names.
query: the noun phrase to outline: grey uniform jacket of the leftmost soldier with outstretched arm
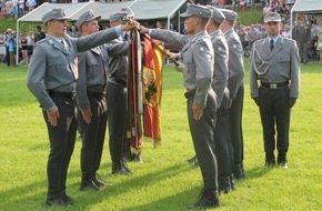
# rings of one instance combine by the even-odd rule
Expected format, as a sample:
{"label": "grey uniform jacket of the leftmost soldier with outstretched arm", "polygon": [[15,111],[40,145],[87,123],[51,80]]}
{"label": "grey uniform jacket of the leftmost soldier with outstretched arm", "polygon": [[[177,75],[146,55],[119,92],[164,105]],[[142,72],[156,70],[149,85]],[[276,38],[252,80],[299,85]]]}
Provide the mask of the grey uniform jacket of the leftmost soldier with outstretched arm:
{"label": "grey uniform jacket of the leftmost soldier with outstretched arm", "polygon": [[49,90],[74,91],[78,79],[78,51],[87,51],[118,38],[115,29],[100,31],[85,38],[63,37],[64,46],[47,36],[34,46],[27,83],[43,110],[54,107]]}

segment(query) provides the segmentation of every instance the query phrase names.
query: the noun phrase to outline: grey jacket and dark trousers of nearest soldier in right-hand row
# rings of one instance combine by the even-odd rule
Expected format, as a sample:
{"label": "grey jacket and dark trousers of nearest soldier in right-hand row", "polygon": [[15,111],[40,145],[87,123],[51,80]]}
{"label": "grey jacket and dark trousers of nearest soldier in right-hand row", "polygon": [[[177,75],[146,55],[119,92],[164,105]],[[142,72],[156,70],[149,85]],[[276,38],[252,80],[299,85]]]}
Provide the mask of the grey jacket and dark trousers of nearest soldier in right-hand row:
{"label": "grey jacket and dark trousers of nearest soldier in right-hand row", "polygon": [[[181,59],[187,67],[183,70],[183,82],[187,89],[187,111],[191,137],[200,163],[204,190],[217,191],[218,169],[213,151],[213,130],[218,105],[215,93],[211,89],[213,78],[211,39],[205,31],[200,31],[194,37],[188,37],[169,30],[153,29],[150,31],[150,36],[182,47]],[[204,115],[200,120],[193,119],[193,103],[204,108]]]}

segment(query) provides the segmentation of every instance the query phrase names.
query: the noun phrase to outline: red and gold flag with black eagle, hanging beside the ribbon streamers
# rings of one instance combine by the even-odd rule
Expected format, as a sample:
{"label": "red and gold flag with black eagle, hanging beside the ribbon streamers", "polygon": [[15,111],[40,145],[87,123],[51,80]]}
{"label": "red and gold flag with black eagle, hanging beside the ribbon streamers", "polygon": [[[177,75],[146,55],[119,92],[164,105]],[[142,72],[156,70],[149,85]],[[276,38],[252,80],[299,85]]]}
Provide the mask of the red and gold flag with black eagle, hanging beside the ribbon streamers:
{"label": "red and gold flag with black eagle, hanging beside the ribbon streamers", "polygon": [[161,97],[163,47],[144,36],[143,59],[143,131],[144,137],[161,141]]}

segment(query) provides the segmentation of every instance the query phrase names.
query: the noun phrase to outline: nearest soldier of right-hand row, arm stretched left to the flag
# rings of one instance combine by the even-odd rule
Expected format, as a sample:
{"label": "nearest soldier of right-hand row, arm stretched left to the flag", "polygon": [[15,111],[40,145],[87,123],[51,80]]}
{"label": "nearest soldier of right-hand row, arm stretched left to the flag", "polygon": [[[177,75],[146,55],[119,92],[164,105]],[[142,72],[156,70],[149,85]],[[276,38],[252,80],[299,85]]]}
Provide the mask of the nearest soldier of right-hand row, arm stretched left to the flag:
{"label": "nearest soldier of right-hand row, arm stretched left to the flag", "polygon": [[217,159],[213,151],[217,101],[211,88],[213,78],[213,48],[205,26],[212,11],[204,6],[188,4],[184,26],[189,36],[162,29],[140,27],[148,33],[169,44],[182,47],[181,59],[187,69],[183,80],[187,88],[187,112],[190,132],[203,178],[200,199],[189,209],[219,207]]}

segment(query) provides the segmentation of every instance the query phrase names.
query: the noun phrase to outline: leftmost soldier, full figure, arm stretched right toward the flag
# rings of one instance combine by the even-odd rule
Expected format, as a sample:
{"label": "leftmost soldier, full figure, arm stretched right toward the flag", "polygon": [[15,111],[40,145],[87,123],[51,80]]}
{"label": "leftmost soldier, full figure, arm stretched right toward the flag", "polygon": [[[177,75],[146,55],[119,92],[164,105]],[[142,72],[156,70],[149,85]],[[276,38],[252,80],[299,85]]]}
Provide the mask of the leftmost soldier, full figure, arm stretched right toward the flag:
{"label": "leftmost soldier, full figure, arm stretched right toward the flag", "polygon": [[133,28],[125,24],[85,38],[70,38],[67,36],[68,19],[62,8],[42,16],[48,33],[34,46],[27,77],[27,86],[42,108],[49,133],[46,204],[58,207],[72,204],[72,199],[66,194],[66,180],[77,133],[73,101],[78,79],[77,52],[113,40]]}

